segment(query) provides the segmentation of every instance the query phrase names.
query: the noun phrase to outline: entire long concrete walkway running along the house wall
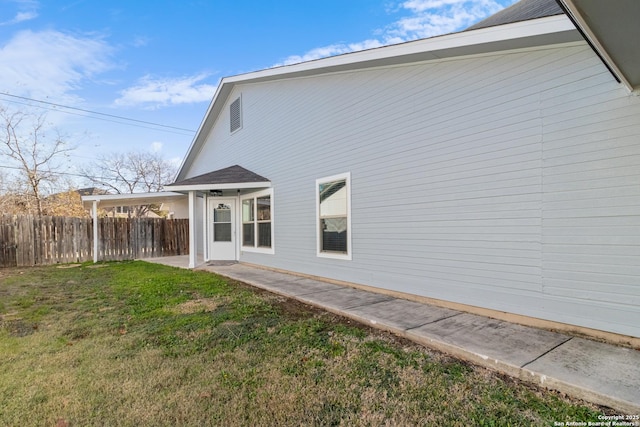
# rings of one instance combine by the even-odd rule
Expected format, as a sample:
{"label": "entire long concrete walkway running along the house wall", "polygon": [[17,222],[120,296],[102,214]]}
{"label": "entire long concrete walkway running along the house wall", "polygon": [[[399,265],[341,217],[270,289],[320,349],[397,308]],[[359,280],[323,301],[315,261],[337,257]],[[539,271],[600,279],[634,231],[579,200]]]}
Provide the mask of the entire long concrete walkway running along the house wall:
{"label": "entire long concrete walkway running along the house wall", "polygon": [[[165,263],[162,259],[147,261]],[[175,261],[166,263],[179,266]],[[621,413],[640,414],[637,350],[244,264],[209,263],[199,269]]]}

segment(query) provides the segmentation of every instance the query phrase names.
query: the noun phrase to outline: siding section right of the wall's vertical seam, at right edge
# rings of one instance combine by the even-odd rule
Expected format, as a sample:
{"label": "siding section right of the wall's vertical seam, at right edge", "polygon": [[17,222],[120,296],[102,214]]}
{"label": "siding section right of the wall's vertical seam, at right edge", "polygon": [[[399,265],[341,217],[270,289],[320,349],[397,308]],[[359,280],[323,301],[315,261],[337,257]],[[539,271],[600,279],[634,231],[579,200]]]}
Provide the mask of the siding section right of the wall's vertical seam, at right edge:
{"label": "siding section right of the wall's vertical seam, at right edge", "polygon": [[577,316],[597,329],[640,336],[640,99],[603,74],[541,101],[544,294],[582,302]]}

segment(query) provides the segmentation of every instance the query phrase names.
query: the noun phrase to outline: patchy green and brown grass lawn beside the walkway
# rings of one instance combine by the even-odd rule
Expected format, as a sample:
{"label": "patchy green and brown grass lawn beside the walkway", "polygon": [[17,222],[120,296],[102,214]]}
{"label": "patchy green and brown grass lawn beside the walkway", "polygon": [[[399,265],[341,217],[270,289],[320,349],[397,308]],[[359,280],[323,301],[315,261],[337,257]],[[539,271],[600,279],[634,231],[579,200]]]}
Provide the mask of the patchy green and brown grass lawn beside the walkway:
{"label": "patchy green and brown grass lawn beside the walkway", "polygon": [[211,273],[0,270],[0,425],[553,425],[601,408]]}

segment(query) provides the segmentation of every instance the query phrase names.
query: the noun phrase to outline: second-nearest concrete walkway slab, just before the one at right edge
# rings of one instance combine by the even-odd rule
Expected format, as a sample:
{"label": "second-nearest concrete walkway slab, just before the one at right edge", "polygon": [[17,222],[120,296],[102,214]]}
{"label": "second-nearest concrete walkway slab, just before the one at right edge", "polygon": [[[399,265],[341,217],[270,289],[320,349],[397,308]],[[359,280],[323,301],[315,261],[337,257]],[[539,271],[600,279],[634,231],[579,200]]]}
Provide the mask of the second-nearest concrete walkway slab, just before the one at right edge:
{"label": "second-nearest concrete walkway slab, just before the one at right edge", "polygon": [[464,313],[407,331],[409,336],[463,348],[484,360],[515,368],[531,363],[568,336]]}

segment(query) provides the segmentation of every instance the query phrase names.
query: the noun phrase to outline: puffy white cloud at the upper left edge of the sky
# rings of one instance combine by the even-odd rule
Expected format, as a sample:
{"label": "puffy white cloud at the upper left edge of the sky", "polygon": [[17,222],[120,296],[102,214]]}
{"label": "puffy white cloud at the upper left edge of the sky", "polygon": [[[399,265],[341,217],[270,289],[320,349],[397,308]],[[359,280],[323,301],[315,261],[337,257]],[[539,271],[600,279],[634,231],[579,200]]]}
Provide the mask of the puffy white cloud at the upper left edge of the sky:
{"label": "puffy white cloud at the upper left edge of the sky", "polygon": [[0,87],[14,95],[79,101],[73,92],[111,68],[111,48],[99,37],[21,31],[0,46]]}

